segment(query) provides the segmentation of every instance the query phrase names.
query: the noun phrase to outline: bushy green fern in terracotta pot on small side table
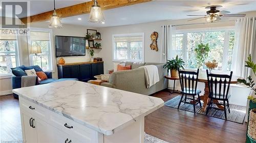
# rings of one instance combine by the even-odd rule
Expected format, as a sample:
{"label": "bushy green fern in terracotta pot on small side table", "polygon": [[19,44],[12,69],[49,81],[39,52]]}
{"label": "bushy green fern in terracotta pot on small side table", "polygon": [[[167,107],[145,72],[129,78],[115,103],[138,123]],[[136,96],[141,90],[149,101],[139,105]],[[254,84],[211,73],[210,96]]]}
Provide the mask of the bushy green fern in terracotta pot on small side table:
{"label": "bushy green fern in terracotta pot on small side table", "polygon": [[179,73],[178,70],[179,69],[183,69],[184,70],[184,65],[185,62],[178,57],[178,55],[176,56],[176,58],[172,59],[172,60],[167,60],[167,62],[164,64],[164,68],[167,68],[167,72],[169,73],[170,70],[170,76],[171,77],[179,77]]}

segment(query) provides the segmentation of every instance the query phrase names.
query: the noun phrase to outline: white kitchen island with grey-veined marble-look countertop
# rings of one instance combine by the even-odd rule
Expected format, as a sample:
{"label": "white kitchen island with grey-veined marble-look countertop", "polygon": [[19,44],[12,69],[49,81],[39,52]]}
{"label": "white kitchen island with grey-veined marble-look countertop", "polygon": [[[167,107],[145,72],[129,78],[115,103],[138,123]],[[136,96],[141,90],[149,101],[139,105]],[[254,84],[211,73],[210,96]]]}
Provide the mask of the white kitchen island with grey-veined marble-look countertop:
{"label": "white kitchen island with grey-veined marble-look countertop", "polygon": [[143,142],[160,98],[81,81],[14,89],[27,142]]}

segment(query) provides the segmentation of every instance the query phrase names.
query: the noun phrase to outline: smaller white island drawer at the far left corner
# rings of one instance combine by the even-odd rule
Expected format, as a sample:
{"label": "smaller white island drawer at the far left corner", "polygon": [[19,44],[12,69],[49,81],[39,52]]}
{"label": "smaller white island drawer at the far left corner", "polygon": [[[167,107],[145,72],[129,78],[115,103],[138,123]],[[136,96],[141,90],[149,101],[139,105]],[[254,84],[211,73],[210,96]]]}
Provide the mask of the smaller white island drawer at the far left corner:
{"label": "smaller white island drawer at the far left corner", "polygon": [[33,116],[37,116],[39,118],[45,118],[46,109],[44,109],[43,107],[40,107],[39,105],[31,101],[25,100],[23,98],[19,98],[19,106],[23,110],[31,113]]}

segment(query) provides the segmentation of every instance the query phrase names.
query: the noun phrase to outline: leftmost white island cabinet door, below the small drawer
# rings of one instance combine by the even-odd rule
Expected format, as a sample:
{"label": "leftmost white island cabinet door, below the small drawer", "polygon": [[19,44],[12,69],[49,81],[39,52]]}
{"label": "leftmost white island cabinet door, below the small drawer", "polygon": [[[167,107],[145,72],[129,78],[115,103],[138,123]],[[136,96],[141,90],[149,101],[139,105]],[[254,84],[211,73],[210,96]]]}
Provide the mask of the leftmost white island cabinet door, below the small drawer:
{"label": "leftmost white island cabinet door, below the small drawer", "polygon": [[[26,142],[37,142],[37,133],[36,133],[36,128],[31,127],[31,120],[33,119],[32,116],[27,113],[26,111],[20,111],[20,115],[22,116],[22,124],[23,124],[23,135],[26,140]],[[31,119],[32,118],[32,119]]]}

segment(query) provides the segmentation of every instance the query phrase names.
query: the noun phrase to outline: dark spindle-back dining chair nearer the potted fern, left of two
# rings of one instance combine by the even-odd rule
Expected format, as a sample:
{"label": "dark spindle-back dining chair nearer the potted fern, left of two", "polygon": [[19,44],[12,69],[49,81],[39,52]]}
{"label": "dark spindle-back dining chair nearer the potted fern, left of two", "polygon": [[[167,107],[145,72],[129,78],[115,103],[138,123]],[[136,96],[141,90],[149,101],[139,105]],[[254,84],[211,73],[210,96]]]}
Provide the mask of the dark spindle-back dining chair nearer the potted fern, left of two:
{"label": "dark spindle-back dining chair nearer the potted fern, left of two", "polygon": [[[179,70],[179,78],[180,78],[180,86],[181,86],[181,99],[178,105],[178,109],[180,108],[181,102],[183,103],[188,103],[188,104],[193,104],[194,107],[194,113],[196,113],[196,104],[199,103],[200,107],[201,101],[200,101],[200,96],[199,94],[201,93],[201,90],[197,90],[197,82],[198,82],[198,74],[199,74],[199,69],[197,69],[197,72],[193,71],[180,71]],[[185,99],[183,99],[185,95]],[[193,96],[193,98],[189,98],[187,96]],[[195,99],[195,96],[198,96],[198,99]],[[187,102],[187,99],[193,100],[192,103]]]}

